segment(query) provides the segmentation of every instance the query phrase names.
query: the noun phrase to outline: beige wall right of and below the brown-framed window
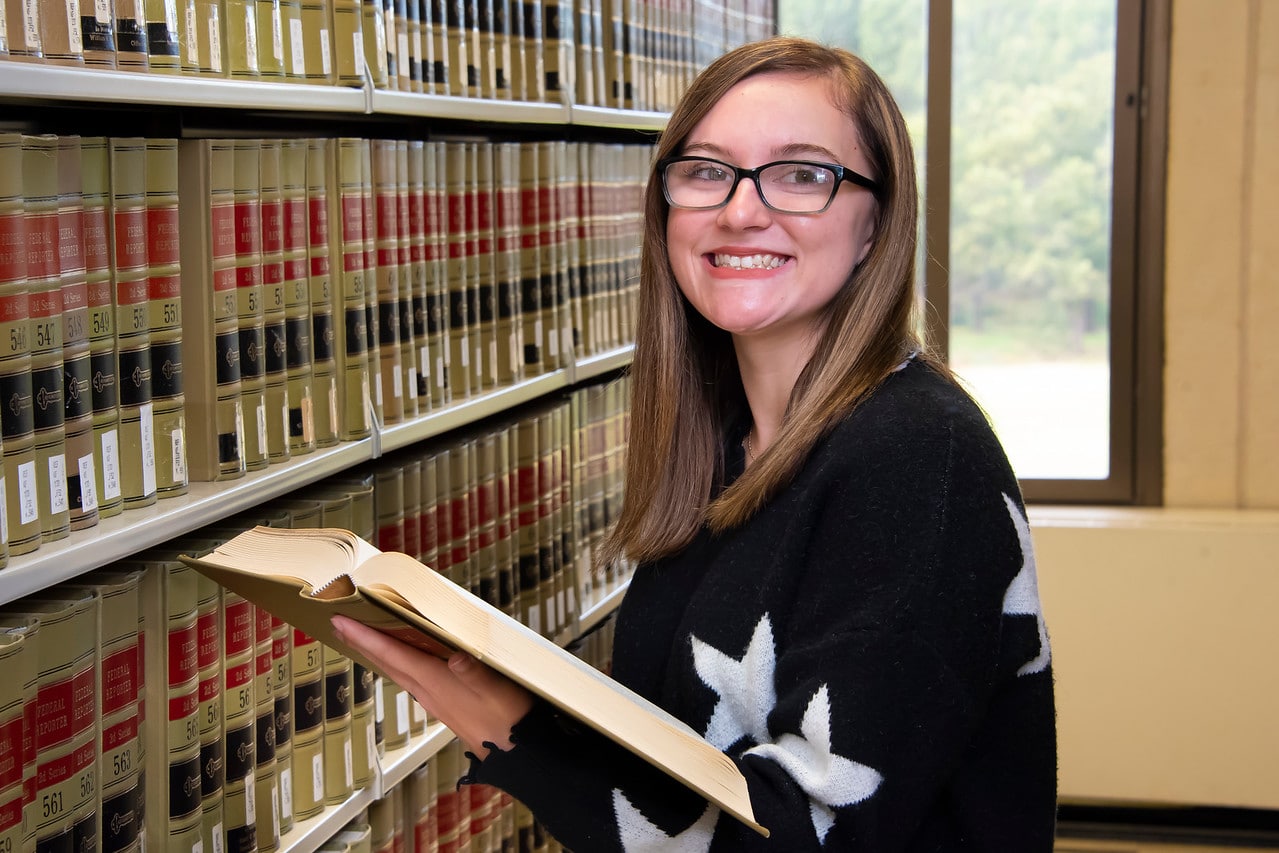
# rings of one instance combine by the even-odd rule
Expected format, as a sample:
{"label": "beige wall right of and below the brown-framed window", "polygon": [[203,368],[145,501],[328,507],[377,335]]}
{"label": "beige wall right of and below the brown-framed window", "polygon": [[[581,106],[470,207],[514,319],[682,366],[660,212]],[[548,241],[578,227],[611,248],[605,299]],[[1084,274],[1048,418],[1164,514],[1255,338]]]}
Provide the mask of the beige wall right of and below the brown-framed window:
{"label": "beige wall right of and below the brown-framed window", "polygon": [[1279,0],[1170,0],[1164,508],[1031,508],[1067,801],[1279,810]]}

